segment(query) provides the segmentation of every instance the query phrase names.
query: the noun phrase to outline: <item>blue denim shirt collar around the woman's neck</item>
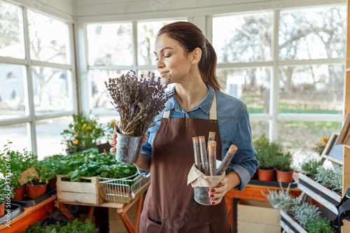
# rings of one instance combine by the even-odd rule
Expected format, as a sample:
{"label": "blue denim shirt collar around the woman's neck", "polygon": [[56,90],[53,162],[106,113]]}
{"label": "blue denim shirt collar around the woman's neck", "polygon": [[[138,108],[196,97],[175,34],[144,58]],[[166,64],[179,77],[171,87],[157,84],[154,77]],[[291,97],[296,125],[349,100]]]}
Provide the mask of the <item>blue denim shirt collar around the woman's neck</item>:
{"label": "blue denim shirt collar around the woman's neck", "polygon": [[[195,106],[195,108],[192,108],[190,111],[195,111],[198,108],[200,108],[202,109],[202,111],[204,111],[204,113],[207,113],[209,115],[211,104],[213,103],[215,91],[213,87],[211,87],[207,83],[205,85],[207,85],[208,87],[207,96],[200,102],[200,104]],[[175,92],[175,86],[172,88],[172,92]],[[165,111],[169,111],[172,109],[175,109],[175,111],[177,111],[176,109],[181,109],[181,106],[175,96],[169,99],[169,101],[167,101],[167,105],[165,106]]]}

